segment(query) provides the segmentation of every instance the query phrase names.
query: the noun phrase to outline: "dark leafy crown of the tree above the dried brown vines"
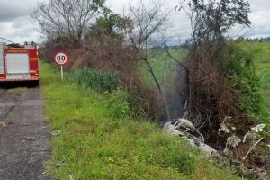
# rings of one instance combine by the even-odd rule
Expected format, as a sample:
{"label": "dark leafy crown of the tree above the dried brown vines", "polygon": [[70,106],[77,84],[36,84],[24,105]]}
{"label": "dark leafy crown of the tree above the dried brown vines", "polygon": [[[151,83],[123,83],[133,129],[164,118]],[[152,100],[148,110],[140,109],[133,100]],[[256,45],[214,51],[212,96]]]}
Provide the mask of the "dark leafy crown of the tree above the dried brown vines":
{"label": "dark leafy crown of the tree above the dried brown vines", "polygon": [[194,46],[205,42],[224,40],[226,34],[237,24],[249,27],[247,0],[179,0],[175,11],[188,15],[192,28]]}

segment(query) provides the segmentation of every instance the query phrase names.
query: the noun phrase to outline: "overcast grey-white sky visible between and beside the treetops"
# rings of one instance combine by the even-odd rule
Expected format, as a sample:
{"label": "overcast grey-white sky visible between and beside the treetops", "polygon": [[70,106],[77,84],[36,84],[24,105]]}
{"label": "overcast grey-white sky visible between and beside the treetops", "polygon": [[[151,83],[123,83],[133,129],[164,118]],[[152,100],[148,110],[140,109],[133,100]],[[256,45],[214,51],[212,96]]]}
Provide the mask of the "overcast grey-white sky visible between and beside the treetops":
{"label": "overcast grey-white sky visible between and beside the treetops", "polygon": [[[38,26],[31,20],[30,14],[36,7],[38,0],[0,0],[0,37],[14,42],[24,41],[40,42]],[[122,13],[129,2],[137,0],[107,0],[107,5],[116,13]],[[174,9],[178,0],[167,0],[167,8]],[[245,31],[232,31],[231,36],[245,34],[249,37],[270,36],[270,0],[249,0],[252,13],[250,29]],[[169,34],[185,39],[189,37],[190,29],[188,19],[181,14],[171,15],[171,28]],[[0,40],[1,42],[2,40]]]}

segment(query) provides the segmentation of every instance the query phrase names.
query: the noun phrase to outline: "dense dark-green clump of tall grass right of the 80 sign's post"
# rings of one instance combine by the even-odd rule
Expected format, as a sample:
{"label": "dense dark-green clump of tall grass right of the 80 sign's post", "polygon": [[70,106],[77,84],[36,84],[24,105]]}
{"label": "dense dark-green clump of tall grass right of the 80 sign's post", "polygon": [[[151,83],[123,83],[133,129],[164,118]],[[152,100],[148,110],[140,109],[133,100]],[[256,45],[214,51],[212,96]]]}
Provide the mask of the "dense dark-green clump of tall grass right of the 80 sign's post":
{"label": "dense dark-green clump of tall grass right of the 80 sign's post", "polygon": [[104,93],[116,90],[120,86],[120,73],[96,71],[90,68],[75,70],[73,81],[78,85],[90,87],[97,92]]}

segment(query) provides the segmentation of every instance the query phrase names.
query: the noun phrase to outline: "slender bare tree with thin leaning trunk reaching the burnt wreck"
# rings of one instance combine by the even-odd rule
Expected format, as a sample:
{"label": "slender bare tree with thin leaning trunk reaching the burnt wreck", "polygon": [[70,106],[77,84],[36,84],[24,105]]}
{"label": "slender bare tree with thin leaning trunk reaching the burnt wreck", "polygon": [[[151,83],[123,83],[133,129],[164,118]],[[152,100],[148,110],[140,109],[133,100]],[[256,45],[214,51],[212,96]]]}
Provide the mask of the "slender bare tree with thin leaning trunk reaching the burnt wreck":
{"label": "slender bare tree with thin leaning trunk reaching the burnt wreck", "polygon": [[[158,92],[163,100],[166,109],[166,118],[171,120],[166,97],[162,87],[157,80],[151,63],[147,57],[148,42],[150,38],[166,30],[166,23],[170,12],[165,8],[162,0],[139,0],[138,4],[130,4],[130,18],[133,21],[133,31],[130,32],[130,44],[135,49],[141,60],[145,61],[148,72],[157,85]],[[146,53],[145,53],[146,50]]]}

